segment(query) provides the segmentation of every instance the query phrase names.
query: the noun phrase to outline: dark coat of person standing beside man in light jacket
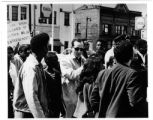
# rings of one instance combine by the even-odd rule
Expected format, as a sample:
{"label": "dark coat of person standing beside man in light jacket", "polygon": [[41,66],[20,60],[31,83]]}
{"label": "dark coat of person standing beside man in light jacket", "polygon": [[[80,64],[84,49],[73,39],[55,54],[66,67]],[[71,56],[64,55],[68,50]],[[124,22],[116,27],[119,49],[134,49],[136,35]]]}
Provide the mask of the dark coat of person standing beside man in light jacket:
{"label": "dark coat of person standing beside man in light jacket", "polygon": [[49,108],[49,117],[58,118],[61,114],[65,114],[65,104],[62,96],[61,75],[55,72],[55,79],[53,79],[48,72],[45,71],[46,76],[46,90]]}

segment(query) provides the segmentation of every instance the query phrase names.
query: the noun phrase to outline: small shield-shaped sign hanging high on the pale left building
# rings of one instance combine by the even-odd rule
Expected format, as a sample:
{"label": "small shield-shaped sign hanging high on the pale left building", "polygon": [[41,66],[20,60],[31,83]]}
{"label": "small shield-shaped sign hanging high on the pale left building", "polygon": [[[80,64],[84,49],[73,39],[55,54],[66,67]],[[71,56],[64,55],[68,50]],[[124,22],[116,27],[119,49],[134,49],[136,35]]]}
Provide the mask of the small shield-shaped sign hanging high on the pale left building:
{"label": "small shield-shaped sign hanging high on the pale left building", "polygon": [[42,12],[44,14],[44,17],[50,17],[50,14],[52,13],[52,7],[50,4],[42,4]]}

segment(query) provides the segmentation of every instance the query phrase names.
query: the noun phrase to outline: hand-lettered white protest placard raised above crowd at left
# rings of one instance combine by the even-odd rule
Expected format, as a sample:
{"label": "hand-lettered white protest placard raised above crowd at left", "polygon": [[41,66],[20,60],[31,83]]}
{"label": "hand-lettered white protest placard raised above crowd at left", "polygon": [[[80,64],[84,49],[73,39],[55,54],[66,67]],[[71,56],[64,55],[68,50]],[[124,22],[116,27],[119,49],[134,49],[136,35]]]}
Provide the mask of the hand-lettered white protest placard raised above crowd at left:
{"label": "hand-lettered white protest placard raised above crowd at left", "polygon": [[7,24],[7,42],[8,46],[19,44],[30,44],[31,36],[27,20],[10,22]]}

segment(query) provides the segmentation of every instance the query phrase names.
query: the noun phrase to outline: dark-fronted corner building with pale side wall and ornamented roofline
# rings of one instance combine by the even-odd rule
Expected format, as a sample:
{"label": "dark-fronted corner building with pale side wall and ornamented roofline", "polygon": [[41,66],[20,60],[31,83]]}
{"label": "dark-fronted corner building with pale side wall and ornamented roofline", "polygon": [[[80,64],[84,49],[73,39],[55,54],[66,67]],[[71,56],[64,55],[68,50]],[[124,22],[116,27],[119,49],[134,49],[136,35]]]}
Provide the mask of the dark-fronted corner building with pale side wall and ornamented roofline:
{"label": "dark-fronted corner building with pale side wall and ornamented roofline", "polygon": [[117,35],[141,36],[141,32],[135,30],[135,17],[138,16],[141,12],[129,10],[126,4],[117,4],[115,8],[83,5],[75,10],[75,35],[88,39],[93,49],[98,39],[105,41],[109,49]]}

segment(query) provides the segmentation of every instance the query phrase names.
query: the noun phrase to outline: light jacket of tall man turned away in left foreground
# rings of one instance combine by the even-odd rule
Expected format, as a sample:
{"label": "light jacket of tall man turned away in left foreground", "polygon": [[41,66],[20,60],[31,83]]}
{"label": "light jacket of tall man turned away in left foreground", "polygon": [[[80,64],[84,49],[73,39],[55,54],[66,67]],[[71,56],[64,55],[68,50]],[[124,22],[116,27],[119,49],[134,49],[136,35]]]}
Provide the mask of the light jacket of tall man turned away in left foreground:
{"label": "light jacket of tall man turned away in left foreground", "polygon": [[48,109],[43,74],[42,65],[31,54],[23,63],[15,84],[15,110],[30,112],[35,118],[46,117]]}

